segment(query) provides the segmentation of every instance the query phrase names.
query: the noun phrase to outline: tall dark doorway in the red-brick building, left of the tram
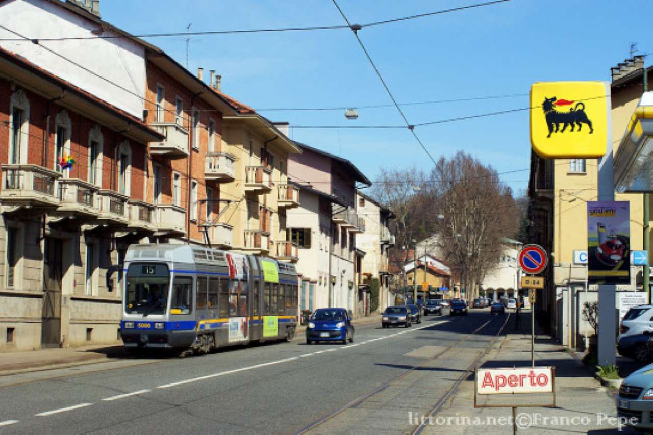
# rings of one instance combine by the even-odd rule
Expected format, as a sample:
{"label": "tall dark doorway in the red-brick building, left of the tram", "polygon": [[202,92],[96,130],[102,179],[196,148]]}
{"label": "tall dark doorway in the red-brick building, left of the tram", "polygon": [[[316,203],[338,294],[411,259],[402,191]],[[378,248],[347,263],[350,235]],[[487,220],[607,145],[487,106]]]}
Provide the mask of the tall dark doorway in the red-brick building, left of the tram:
{"label": "tall dark doorway in the red-brick building, left of the tram", "polygon": [[59,347],[61,330],[61,278],[63,276],[63,241],[44,239],[43,306],[41,311],[41,346]]}

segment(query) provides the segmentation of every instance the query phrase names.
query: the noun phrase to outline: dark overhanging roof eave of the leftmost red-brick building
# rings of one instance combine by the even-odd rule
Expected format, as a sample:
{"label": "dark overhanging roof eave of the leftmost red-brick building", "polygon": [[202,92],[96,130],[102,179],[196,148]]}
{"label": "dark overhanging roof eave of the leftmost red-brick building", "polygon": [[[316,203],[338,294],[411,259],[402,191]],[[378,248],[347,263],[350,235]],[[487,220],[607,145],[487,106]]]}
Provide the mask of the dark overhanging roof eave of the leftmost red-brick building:
{"label": "dark overhanging roof eave of the leftmost red-brick building", "polygon": [[[136,118],[132,114],[129,114],[125,112],[124,110],[107,103],[103,99],[99,99],[95,95],[85,91],[84,89],[79,88],[78,86],[75,86],[71,82],[68,82],[67,80],[63,80],[63,78],[60,78],[59,76],[56,76],[55,74],[52,74],[52,72],[46,71],[45,69],[42,69],[41,67],[35,65],[34,63],[31,63],[24,57],[14,53],[10,52],[8,50],[5,50],[4,48],[0,47],[0,58],[5,59],[8,62],[14,63],[18,67],[25,69],[33,74],[36,74],[37,76],[40,76],[41,78],[44,78],[50,82],[53,82],[54,84],[57,84],[57,86],[60,89],[65,89],[66,93],[72,93],[72,95],[76,97],[80,97],[84,99],[85,101],[88,101],[92,103],[95,106],[98,106],[102,108],[103,110],[106,110],[107,112],[110,112],[116,118],[119,118],[120,120],[125,121],[128,125],[129,128],[131,127],[136,127],[143,133],[143,140],[146,142],[148,140],[163,140],[165,138],[164,135],[159,133],[159,131],[151,128],[148,126],[144,121]],[[7,63],[5,63],[7,65]],[[0,65],[0,69],[3,66]],[[59,97],[59,95],[56,95]],[[50,95],[50,97],[54,97],[54,95]],[[62,97],[59,99],[60,103],[66,103],[67,96]],[[86,114],[86,116],[89,116]],[[112,125],[111,127],[116,127],[115,125]]]}

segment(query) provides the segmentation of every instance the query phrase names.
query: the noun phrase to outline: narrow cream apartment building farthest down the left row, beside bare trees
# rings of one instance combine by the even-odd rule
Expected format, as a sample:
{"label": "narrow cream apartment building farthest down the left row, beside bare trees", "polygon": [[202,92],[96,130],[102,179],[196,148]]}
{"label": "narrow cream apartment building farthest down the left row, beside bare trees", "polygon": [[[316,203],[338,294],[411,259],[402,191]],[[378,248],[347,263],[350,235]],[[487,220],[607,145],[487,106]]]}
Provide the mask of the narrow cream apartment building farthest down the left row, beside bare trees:
{"label": "narrow cream apartment building farthest down the left row, beside bare trees", "polygon": [[[356,246],[364,251],[361,257],[359,289],[369,289],[372,278],[379,280],[378,307],[381,312],[389,305],[394,305],[390,297],[390,263],[388,254],[394,246],[395,236],[390,233],[390,219],[394,214],[372,197],[362,191],[356,191],[357,212],[365,223],[365,232],[356,236]],[[364,311],[363,293],[360,291],[357,310]]]}

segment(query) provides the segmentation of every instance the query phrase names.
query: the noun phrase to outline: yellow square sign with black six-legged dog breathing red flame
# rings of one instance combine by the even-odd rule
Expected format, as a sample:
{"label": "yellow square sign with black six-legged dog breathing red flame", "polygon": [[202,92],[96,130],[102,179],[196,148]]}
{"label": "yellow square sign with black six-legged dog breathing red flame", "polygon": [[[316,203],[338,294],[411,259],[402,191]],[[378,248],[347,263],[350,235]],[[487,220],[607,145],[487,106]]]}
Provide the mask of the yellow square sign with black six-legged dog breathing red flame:
{"label": "yellow square sign with black six-legged dog breathing red flame", "polygon": [[549,159],[601,157],[607,145],[609,85],[540,82],[530,91],[533,150]]}

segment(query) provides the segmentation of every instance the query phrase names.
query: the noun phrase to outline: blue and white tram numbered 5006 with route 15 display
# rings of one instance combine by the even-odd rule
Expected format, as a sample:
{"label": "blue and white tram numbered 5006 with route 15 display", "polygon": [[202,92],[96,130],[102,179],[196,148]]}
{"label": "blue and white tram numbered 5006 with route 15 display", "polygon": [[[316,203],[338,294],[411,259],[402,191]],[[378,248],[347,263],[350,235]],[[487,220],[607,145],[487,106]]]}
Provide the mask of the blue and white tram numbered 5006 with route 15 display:
{"label": "blue and white tram numbered 5006 with route 15 display", "polygon": [[127,250],[123,275],[126,347],[206,353],[295,336],[295,265],[199,246],[140,244]]}

